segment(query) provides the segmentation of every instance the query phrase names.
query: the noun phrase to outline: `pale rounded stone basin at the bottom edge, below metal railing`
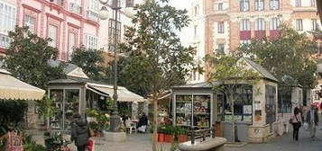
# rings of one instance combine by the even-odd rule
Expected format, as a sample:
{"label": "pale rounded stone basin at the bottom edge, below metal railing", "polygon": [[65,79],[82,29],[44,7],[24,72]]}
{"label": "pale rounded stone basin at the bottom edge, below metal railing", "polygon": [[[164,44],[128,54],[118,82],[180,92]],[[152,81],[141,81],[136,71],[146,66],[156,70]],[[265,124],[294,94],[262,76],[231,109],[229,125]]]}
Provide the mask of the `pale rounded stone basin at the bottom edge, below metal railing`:
{"label": "pale rounded stone basin at the bottom edge, below metal railing", "polygon": [[225,138],[209,138],[203,142],[191,144],[190,141],[179,144],[179,151],[224,151]]}

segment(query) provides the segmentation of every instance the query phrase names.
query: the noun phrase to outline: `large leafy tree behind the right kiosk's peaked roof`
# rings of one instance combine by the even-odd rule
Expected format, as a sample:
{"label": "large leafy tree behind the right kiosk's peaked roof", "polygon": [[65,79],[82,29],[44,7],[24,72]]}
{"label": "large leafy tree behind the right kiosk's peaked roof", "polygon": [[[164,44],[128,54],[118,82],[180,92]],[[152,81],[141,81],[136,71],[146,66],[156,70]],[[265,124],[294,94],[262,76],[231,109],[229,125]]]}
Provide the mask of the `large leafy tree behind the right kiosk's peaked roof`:
{"label": "large leafy tree behind the right kiosk's peaked roof", "polygon": [[276,40],[252,40],[239,48],[244,56],[253,59],[280,81],[279,86],[288,85],[285,77],[291,77],[304,88],[316,85],[317,63],[310,58],[316,53],[316,42],[287,27],[280,27],[280,38]]}

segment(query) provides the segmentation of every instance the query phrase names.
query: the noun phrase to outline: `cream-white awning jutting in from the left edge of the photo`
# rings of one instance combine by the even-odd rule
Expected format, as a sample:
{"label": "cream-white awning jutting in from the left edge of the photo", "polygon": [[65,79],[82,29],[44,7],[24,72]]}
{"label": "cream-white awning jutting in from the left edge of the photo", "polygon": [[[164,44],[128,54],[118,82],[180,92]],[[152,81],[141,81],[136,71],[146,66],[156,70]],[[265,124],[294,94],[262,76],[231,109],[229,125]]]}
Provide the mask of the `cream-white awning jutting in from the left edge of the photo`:
{"label": "cream-white awning jutting in from the left edge of the photo", "polygon": [[10,76],[0,68],[0,99],[41,100],[45,91]]}

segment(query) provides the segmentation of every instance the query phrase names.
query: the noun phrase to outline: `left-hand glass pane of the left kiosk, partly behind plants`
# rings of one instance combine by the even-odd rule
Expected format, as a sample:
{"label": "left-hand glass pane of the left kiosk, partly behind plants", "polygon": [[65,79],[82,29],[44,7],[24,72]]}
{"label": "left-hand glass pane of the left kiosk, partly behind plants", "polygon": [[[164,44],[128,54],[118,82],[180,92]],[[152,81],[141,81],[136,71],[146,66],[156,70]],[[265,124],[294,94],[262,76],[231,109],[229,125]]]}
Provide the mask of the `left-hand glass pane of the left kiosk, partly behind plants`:
{"label": "left-hand glass pane of the left kiosk, partly behind plants", "polygon": [[62,129],[62,111],[63,111],[63,90],[51,90],[52,107],[54,108],[51,117],[51,129]]}

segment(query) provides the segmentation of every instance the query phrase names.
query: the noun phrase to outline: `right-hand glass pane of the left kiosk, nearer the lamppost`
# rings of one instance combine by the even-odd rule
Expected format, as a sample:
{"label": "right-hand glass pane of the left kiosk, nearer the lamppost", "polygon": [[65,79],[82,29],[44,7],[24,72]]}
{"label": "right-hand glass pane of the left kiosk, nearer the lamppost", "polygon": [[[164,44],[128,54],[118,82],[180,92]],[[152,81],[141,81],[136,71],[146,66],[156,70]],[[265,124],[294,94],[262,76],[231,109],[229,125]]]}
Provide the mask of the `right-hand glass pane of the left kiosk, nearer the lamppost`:
{"label": "right-hand glass pane of the left kiosk, nearer the lamppost", "polygon": [[65,90],[65,129],[70,129],[72,116],[78,113],[79,108],[79,90]]}

